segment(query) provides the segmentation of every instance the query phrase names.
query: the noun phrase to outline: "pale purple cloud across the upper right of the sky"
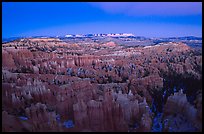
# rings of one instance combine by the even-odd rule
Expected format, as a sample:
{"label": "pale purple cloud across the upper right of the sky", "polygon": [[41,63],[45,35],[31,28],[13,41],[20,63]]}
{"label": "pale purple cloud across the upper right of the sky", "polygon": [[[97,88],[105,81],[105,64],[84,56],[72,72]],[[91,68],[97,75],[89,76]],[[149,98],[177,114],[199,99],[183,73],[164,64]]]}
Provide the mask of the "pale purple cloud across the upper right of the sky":
{"label": "pale purple cloud across the upper right of the sky", "polygon": [[201,15],[202,2],[96,2],[90,3],[108,13],[133,16]]}

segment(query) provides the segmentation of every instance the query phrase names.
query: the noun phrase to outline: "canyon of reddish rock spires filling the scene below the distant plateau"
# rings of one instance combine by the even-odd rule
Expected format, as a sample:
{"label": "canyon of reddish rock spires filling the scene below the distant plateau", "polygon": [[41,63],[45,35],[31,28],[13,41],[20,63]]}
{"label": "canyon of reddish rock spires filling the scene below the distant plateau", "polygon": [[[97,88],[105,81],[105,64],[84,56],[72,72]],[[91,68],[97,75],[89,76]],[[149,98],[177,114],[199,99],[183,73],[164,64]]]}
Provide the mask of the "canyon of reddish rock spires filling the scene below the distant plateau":
{"label": "canyon of reddish rock spires filling the scene below the distant plateau", "polygon": [[202,53],[25,38],[2,44],[4,132],[200,132]]}

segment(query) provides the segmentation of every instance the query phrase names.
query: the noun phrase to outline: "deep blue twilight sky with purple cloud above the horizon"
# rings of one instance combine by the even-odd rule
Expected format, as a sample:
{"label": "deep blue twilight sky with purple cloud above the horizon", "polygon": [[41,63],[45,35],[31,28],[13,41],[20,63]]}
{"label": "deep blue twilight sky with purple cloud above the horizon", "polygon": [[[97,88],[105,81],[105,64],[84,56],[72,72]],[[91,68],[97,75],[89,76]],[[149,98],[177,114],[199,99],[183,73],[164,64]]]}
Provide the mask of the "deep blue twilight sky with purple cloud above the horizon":
{"label": "deep blue twilight sky with purple cloud above the horizon", "polygon": [[2,38],[89,33],[202,37],[202,2],[2,2]]}

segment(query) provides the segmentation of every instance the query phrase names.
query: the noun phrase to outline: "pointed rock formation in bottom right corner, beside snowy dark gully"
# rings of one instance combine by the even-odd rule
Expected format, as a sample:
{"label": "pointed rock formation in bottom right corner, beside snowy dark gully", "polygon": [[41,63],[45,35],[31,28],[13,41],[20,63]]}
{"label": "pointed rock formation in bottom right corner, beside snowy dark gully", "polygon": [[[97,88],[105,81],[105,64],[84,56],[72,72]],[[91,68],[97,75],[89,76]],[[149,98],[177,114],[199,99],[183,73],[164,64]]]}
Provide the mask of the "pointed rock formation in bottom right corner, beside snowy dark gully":
{"label": "pointed rock formation in bottom right corner, beside snowy dark gully", "polygon": [[[172,117],[174,115],[174,117]],[[183,123],[180,127],[173,127],[173,131],[195,131],[202,130],[198,109],[192,106],[183,94],[182,90],[168,97],[167,103],[164,107],[164,118],[171,121],[176,120],[177,123]],[[188,123],[185,121],[188,120]],[[190,122],[190,124],[189,124]],[[186,124],[185,124],[186,123]],[[179,125],[179,124],[178,124]],[[171,126],[172,127],[172,126]]]}

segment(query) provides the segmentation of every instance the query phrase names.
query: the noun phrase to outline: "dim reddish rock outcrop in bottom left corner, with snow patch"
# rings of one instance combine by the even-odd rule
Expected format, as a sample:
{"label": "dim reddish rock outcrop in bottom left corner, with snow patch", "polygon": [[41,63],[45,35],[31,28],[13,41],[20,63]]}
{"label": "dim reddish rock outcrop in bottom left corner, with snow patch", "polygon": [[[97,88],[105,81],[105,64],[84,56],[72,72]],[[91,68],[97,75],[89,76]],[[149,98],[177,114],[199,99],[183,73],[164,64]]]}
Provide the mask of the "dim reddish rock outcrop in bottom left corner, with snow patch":
{"label": "dim reddish rock outcrop in bottom left corner, with snow patch", "polygon": [[[13,116],[3,111],[4,131],[61,131],[61,127],[56,122],[56,114],[48,112],[44,104],[37,103],[25,109],[25,115]],[[9,122],[14,124],[11,125]]]}

